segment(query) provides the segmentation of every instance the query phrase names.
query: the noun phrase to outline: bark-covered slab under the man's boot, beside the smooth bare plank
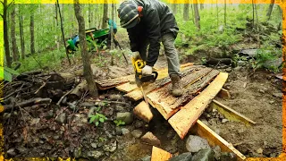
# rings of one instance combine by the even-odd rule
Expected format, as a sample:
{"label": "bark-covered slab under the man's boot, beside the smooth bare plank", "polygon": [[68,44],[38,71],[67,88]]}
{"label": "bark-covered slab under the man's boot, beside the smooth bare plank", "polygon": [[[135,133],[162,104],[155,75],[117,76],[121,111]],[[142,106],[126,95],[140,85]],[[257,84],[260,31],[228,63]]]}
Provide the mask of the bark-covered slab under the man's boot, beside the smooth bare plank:
{"label": "bark-covered slab under the man's boot, beside the smooth bare plank", "polygon": [[[162,89],[157,89],[147,95],[149,103],[155,107],[167,120],[172,114],[175,114],[181,106],[184,106],[190,99],[194,97],[199,89],[204,88],[207,83],[218,74],[219,72],[210,68],[194,72],[181,79],[182,87],[186,92],[181,97],[173,97],[168,90],[172,88],[172,84],[164,86]],[[198,81],[199,80],[199,81]],[[196,83],[194,86],[192,84]]]}

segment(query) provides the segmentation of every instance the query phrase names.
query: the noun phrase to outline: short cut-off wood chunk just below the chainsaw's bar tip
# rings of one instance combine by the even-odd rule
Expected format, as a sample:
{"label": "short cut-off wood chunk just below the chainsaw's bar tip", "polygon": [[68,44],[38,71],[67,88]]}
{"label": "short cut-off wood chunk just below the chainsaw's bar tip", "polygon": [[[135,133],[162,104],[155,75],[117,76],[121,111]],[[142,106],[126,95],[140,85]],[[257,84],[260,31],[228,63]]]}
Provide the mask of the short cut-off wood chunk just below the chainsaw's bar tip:
{"label": "short cut-off wood chunk just below the chainsaw's bar tip", "polygon": [[142,101],[139,103],[138,106],[135,106],[135,108],[133,109],[133,113],[147,123],[149,123],[153,118],[151,109],[145,101]]}

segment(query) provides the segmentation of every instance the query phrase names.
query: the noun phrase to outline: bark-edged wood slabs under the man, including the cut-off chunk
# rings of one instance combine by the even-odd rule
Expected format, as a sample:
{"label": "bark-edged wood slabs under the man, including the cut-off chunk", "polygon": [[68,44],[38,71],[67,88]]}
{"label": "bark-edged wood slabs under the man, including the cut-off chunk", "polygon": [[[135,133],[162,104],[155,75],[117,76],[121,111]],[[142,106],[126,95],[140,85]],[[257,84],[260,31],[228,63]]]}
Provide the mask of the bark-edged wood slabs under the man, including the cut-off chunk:
{"label": "bark-edged wood slabs under the man, including the cut-off chunk", "polygon": [[[197,122],[198,117],[204,112],[206,106],[221,91],[228,74],[206,66],[182,64],[181,86],[184,93],[181,97],[172,97],[170,92],[172,83],[167,70],[157,72],[159,74],[158,79],[144,87],[147,101],[164,116],[164,119],[168,120],[172,128],[183,139],[190,127]],[[130,78],[131,76],[118,78],[117,80],[122,79],[121,83],[118,83],[117,80],[108,80],[108,86],[116,86],[116,89],[126,93],[124,97],[138,101],[143,98],[142,92],[136,85],[130,83],[131,80],[128,81]],[[105,81],[107,82],[107,80]],[[146,122],[153,118],[153,114],[145,102],[139,103],[133,112]]]}

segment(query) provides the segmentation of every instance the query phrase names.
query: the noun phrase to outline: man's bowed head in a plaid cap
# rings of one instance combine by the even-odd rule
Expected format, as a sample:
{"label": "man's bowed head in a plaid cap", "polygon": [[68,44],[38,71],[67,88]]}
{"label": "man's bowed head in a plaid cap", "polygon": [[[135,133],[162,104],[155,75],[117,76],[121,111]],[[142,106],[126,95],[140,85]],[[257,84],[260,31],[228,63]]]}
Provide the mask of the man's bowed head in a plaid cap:
{"label": "man's bowed head in a plaid cap", "polygon": [[[142,9],[142,8],[141,8]],[[128,0],[120,4],[118,10],[118,17],[122,28],[130,29],[139,23],[139,6],[135,2]]]}

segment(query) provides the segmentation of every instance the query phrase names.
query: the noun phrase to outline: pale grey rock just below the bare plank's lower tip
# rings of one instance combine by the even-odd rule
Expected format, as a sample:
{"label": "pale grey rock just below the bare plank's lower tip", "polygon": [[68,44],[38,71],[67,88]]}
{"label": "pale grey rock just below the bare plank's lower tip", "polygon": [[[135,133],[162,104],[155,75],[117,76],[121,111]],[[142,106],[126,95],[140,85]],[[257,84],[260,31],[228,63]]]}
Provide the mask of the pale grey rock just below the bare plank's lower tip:
{"label": "pale grey rock just below the bare plank's lower tip", "polygon": [[186,148],[189,152],[198,152],[200,149],[210,148],[207,140],[202,139],[195,135],[189,135],[186,141]]}

